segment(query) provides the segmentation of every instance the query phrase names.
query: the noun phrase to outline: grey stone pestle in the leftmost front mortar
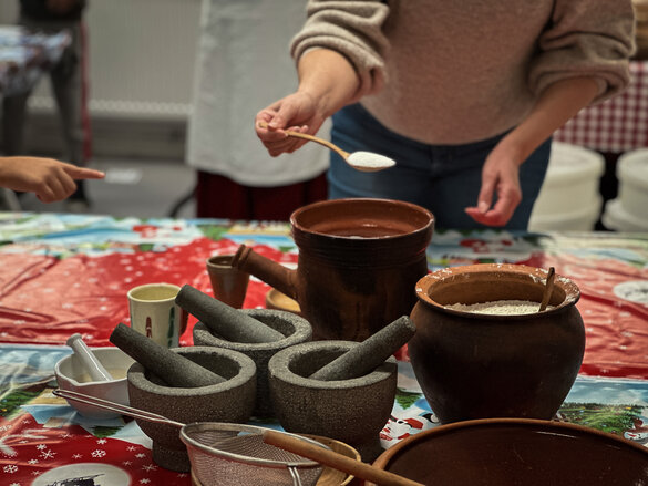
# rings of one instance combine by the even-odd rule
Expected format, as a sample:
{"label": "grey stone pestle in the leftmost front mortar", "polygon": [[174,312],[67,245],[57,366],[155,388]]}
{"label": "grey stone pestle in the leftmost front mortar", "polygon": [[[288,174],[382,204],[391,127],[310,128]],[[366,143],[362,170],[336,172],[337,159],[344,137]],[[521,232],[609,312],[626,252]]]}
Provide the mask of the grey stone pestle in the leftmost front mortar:
{"label": "grey stone pestle in the leftmost front mortar", "polygon": [[223,376],[157,344],[126,324],[119,323],[110,341],[169,386],[188,389],[226,381]]}

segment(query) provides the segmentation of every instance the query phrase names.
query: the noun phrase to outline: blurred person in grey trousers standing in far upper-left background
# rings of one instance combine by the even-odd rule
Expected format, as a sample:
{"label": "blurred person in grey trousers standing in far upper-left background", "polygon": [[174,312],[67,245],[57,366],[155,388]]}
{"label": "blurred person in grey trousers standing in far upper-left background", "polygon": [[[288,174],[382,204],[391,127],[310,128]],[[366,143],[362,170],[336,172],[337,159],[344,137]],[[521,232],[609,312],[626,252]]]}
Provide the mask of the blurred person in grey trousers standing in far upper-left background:
{"label": "blurred person in grey trousers standing in far upper-left background", "polygon": [[[66,29],[72,37],[60,62],[50,71],[52,92],[56,101],[66,162],[86,166],[90,159],[90,122],[86,111],[85,80],[86,40],[83,24],[85,0],[20,0],[19,23],[28,29],[54,32]],[[24,124],[30,92],[3,99],[4,155],[24,154]],[[25,162],[30,157],[23,158]],[[66,200],[66,209],[83,211],[90,205],[83,180]]]}

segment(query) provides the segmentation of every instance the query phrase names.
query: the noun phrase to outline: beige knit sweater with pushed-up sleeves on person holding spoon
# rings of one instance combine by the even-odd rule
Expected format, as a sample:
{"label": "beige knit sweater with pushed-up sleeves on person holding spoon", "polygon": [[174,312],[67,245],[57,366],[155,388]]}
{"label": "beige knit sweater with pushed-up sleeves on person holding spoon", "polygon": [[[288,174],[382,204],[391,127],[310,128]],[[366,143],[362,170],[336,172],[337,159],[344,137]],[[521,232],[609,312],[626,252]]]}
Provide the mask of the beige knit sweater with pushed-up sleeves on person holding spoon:
{"label": "beige knit sweater with pushed-up sleeves on person holding spoon", "polygon": [[517,125],[556,81],[592,76],[596,102],[629,82],[631,0],[309,0],[291,42],[343,54],[362,105],[391,131],[464,144]]}

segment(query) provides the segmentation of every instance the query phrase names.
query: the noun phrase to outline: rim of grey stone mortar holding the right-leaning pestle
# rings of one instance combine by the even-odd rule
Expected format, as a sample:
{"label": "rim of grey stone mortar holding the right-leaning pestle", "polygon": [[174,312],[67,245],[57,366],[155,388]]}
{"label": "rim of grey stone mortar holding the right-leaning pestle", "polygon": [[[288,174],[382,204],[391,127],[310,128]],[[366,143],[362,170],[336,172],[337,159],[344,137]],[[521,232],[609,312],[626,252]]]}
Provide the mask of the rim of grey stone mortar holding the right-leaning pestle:
{"label": "rim of grey stone mortar holding the right-leaning pestle", "polygon": [[[383,363],[371,373],[368,373],[359,378],[353,378],[350,380],[330,381],[311,380],[309,378],[301,376],[290,371],[289,368],[290,358],[296,353],[310,354],[321,349],[348,351],[349,349],[351,349],[352,345],[356,344],[359,343],[354,341],[331,340],[302,342],[301,344],[296,344],[290,348],[286,348],[277,352],[272,358],[270,358],[270,361],[268,362],[268,373],[270,380],[280,380],[292,386],[299,386],[304,389],[332,390],[343,392],[347,389],[376,385],[380,382],[389,380],[392,374],[398,373],[398,363],[394,356],[390,356],[389,359],[385,360],[385,363],[393,364],[394,366],[393,373],[385,370],[384,369],[385,363]],[[309,350],[309,348],[312,349]],[[306,349],[307,351],[305,352],[304,349]]]}

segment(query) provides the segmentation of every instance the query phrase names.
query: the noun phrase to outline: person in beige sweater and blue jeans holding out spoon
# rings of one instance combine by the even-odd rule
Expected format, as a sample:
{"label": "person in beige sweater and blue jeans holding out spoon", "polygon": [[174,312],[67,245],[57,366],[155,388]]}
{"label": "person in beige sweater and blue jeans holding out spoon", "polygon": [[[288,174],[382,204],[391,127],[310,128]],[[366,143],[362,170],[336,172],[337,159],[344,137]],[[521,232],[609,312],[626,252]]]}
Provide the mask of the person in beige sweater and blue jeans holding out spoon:
{"label": "person in beige sweater and blue jeans holding out spoon", "polygon": [[285,128],[315,134],[332,116],[333,143],[397,165],[359,173],[332,154],[329,197],[526,229],[552,133],[628,84],[632,50],[630,0],[310,0],[290,45],[299,86],[256,132],[278,156],[305,143]]}

